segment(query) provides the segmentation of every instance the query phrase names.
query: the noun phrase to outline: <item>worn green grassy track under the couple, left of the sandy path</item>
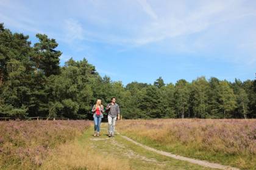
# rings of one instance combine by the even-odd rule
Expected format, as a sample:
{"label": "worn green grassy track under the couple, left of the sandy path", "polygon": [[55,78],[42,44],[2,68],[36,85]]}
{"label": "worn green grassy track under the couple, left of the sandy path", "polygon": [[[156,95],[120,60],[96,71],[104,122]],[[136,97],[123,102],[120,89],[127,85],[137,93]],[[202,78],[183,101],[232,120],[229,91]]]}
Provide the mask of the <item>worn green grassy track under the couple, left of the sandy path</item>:
{"label": "worn green grassy track under the couple, left of the sandy path", "polygon": [[[102,127],[106,127],[106,124],[102,124]],[[92,137],[93,129],[90,128],[79,138],[79,142],[93,146],[95,151],[106,157],[128,160],[131,169],[211,169],[156,154],[125,140],[119,135],[116,135],[115,138],[108,138],[105,129],[102,129],[102,132],[100,137]],[[91,138],[101,138],[102,140],[93,141]]]}

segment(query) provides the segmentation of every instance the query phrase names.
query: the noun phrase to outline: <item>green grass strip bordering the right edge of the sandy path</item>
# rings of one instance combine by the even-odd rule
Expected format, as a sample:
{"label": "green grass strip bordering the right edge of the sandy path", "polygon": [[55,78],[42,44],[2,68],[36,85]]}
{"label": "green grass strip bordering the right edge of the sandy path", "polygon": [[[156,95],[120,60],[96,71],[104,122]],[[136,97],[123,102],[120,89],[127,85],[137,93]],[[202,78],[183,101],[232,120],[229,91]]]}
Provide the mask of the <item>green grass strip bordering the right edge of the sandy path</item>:
{"label": "green grass strip bordering the right edge of the sandy path", "polygon": [[185,157],[196,158],[199,160],[207,160],[221,165],[229,165],[241,169],[256,169],[256,158],[252,155],[230,155],[221,152],[211,152],[199,149],[196,144],[181,144],[179,141],[176,143],[160,143],[159,141],[152,140],[149,137],[142,137],[136,135],[135,132],[121,132],[121,134],[132,138],[146,146],[152,148],[171,152]]}

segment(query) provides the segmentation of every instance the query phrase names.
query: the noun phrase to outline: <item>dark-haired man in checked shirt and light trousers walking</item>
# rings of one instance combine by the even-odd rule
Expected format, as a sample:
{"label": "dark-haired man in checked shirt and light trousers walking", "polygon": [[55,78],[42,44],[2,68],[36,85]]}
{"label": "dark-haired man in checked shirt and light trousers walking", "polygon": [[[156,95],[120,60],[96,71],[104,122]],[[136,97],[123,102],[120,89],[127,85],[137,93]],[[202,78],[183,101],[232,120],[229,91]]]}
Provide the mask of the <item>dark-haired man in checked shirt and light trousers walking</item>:
{"label": "dark-haired man in checked shirt and light trousers walking", "polygon": [[111,98],[111,103],[107,104],[106,110],[108,112],[107,120],[108,120],[108,137],[115,136],[115,125],[116,125],[116,117],[118,119],[120,117],[119,106],[116,103],[116,98]]}

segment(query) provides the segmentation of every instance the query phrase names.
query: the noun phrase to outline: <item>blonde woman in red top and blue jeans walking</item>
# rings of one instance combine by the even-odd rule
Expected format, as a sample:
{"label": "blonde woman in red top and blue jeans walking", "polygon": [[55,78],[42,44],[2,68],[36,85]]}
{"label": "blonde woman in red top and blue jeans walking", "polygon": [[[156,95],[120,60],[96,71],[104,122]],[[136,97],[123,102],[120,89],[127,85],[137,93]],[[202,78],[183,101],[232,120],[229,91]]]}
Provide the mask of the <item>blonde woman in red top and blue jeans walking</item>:
{"label": "blonde woman in red top and blue jeans walking", "polygon": [[101,130],[101,119],[103,117],[104,107],[101,104],[101,100],[97,100],[96,104],[94,104],[93,109],[93,119],[94,119],[94,137],[99,137],[99,131]]}

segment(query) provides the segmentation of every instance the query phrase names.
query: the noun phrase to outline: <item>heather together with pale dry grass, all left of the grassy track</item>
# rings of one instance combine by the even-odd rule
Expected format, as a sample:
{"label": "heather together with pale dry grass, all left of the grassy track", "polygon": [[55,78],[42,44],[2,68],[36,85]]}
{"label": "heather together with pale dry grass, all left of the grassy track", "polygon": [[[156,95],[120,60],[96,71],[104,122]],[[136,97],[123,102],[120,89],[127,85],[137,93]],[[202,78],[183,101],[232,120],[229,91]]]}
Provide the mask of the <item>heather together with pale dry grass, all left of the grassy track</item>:
{"label": "heather together with pale dry grass, all left of the grassy track", "polygon": [[88,145],[91,125],[88,120],[0,121],[0,169],[130,169],[125,160],[106,158]]}

